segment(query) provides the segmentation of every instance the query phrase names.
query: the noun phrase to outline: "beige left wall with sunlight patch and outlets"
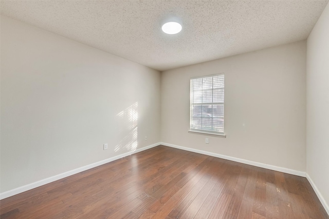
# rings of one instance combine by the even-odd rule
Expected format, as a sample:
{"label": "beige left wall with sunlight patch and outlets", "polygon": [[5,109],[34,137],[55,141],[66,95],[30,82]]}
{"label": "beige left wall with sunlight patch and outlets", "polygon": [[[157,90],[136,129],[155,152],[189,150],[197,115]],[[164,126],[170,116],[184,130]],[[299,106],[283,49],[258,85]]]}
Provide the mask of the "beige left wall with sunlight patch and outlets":
{"label": "beige left wall with sunlight patch and outlets", "polygon": [[159,87],[158,71],[1,16],[1,192],[159,142]]}

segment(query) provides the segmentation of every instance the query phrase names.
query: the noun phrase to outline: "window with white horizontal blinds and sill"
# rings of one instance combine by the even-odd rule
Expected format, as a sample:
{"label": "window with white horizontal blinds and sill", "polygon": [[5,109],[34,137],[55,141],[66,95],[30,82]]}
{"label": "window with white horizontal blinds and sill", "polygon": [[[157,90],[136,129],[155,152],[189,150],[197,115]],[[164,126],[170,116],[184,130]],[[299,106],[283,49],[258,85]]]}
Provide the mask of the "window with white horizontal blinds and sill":
{"label": "window with white horizontal blinds and sill", "polygon": [[191,78],[190,131],[224,135],[224,74]]}

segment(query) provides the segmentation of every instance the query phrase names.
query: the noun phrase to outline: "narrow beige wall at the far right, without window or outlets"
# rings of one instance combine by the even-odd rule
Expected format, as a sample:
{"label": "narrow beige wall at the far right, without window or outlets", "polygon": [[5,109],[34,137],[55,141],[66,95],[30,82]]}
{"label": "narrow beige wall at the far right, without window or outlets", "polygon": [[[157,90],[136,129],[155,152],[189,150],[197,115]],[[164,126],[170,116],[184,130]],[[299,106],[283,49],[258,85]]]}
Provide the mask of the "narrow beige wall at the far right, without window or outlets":
{"label": "narrow beige wall at the far right, without window or outlets", "polygon": [[329,213],[329,5],[307,39],[306,90],[307,174]]}

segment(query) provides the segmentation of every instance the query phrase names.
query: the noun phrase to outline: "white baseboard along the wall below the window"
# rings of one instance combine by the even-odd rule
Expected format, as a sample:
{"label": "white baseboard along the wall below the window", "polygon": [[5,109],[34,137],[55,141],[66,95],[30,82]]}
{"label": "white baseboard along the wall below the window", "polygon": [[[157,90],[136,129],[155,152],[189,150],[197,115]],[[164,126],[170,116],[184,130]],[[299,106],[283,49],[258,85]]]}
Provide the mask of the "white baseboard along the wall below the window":
{"label": "white baseboard along the wall below the window", "polygon": [[275,171],[279,171],[279,172],[284,172],[284,173],[289,173],[289,174],[293,174],[293,175],[306,177],[305,172],[298,171],[298,170],[292,170],[292,169],[288,169],[288,168],[284,168],[284,167],[277,167],[277,166],[273,166],[273,165],[269,165],[269,164],[263,164],[263,163],[258,163],[258,162],[254,162],[254,161],[248,161],[248,160],[244,160],[244,159],[241,159],[241,158],[226,156],[226,155],[212,153],[212,152],[208,152],[208,151],[197,150],[197,149],[193,149],[193,148],[186,148],[186,147],[173,145],[173,144],[168,144],[168,143],[164,143],[164,142],[161,142],[160,144],[164,145],[164,146],[172,147],[172,148],[177,148],[177,149],[181,149],[181,150],[186,150],[186,151],[205,154],[205,155],[214,156],[214,157],[218,157],[218,158],[223,158],[223,159],[229,160],[229,161],[235,161],[235,162],[248,164],[248,165],[252,165],[252,166],[256,166],[256,167],[262,167],[262,168],[266,168],[266,169],[270,169],[270,170],[275,170]]}

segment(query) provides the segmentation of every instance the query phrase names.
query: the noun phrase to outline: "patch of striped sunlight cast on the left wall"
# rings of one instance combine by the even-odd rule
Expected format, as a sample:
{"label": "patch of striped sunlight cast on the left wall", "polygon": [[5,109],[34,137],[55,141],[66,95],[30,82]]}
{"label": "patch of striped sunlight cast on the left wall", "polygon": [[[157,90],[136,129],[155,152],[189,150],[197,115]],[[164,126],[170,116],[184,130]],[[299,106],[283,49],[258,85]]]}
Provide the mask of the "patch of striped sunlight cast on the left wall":
{"label": "patch of striped sunlight cast on the left wall", "polygon": [[114,148],[118,151],[134,151],[137,149],[138,102],[117,114],[120,142]]}

